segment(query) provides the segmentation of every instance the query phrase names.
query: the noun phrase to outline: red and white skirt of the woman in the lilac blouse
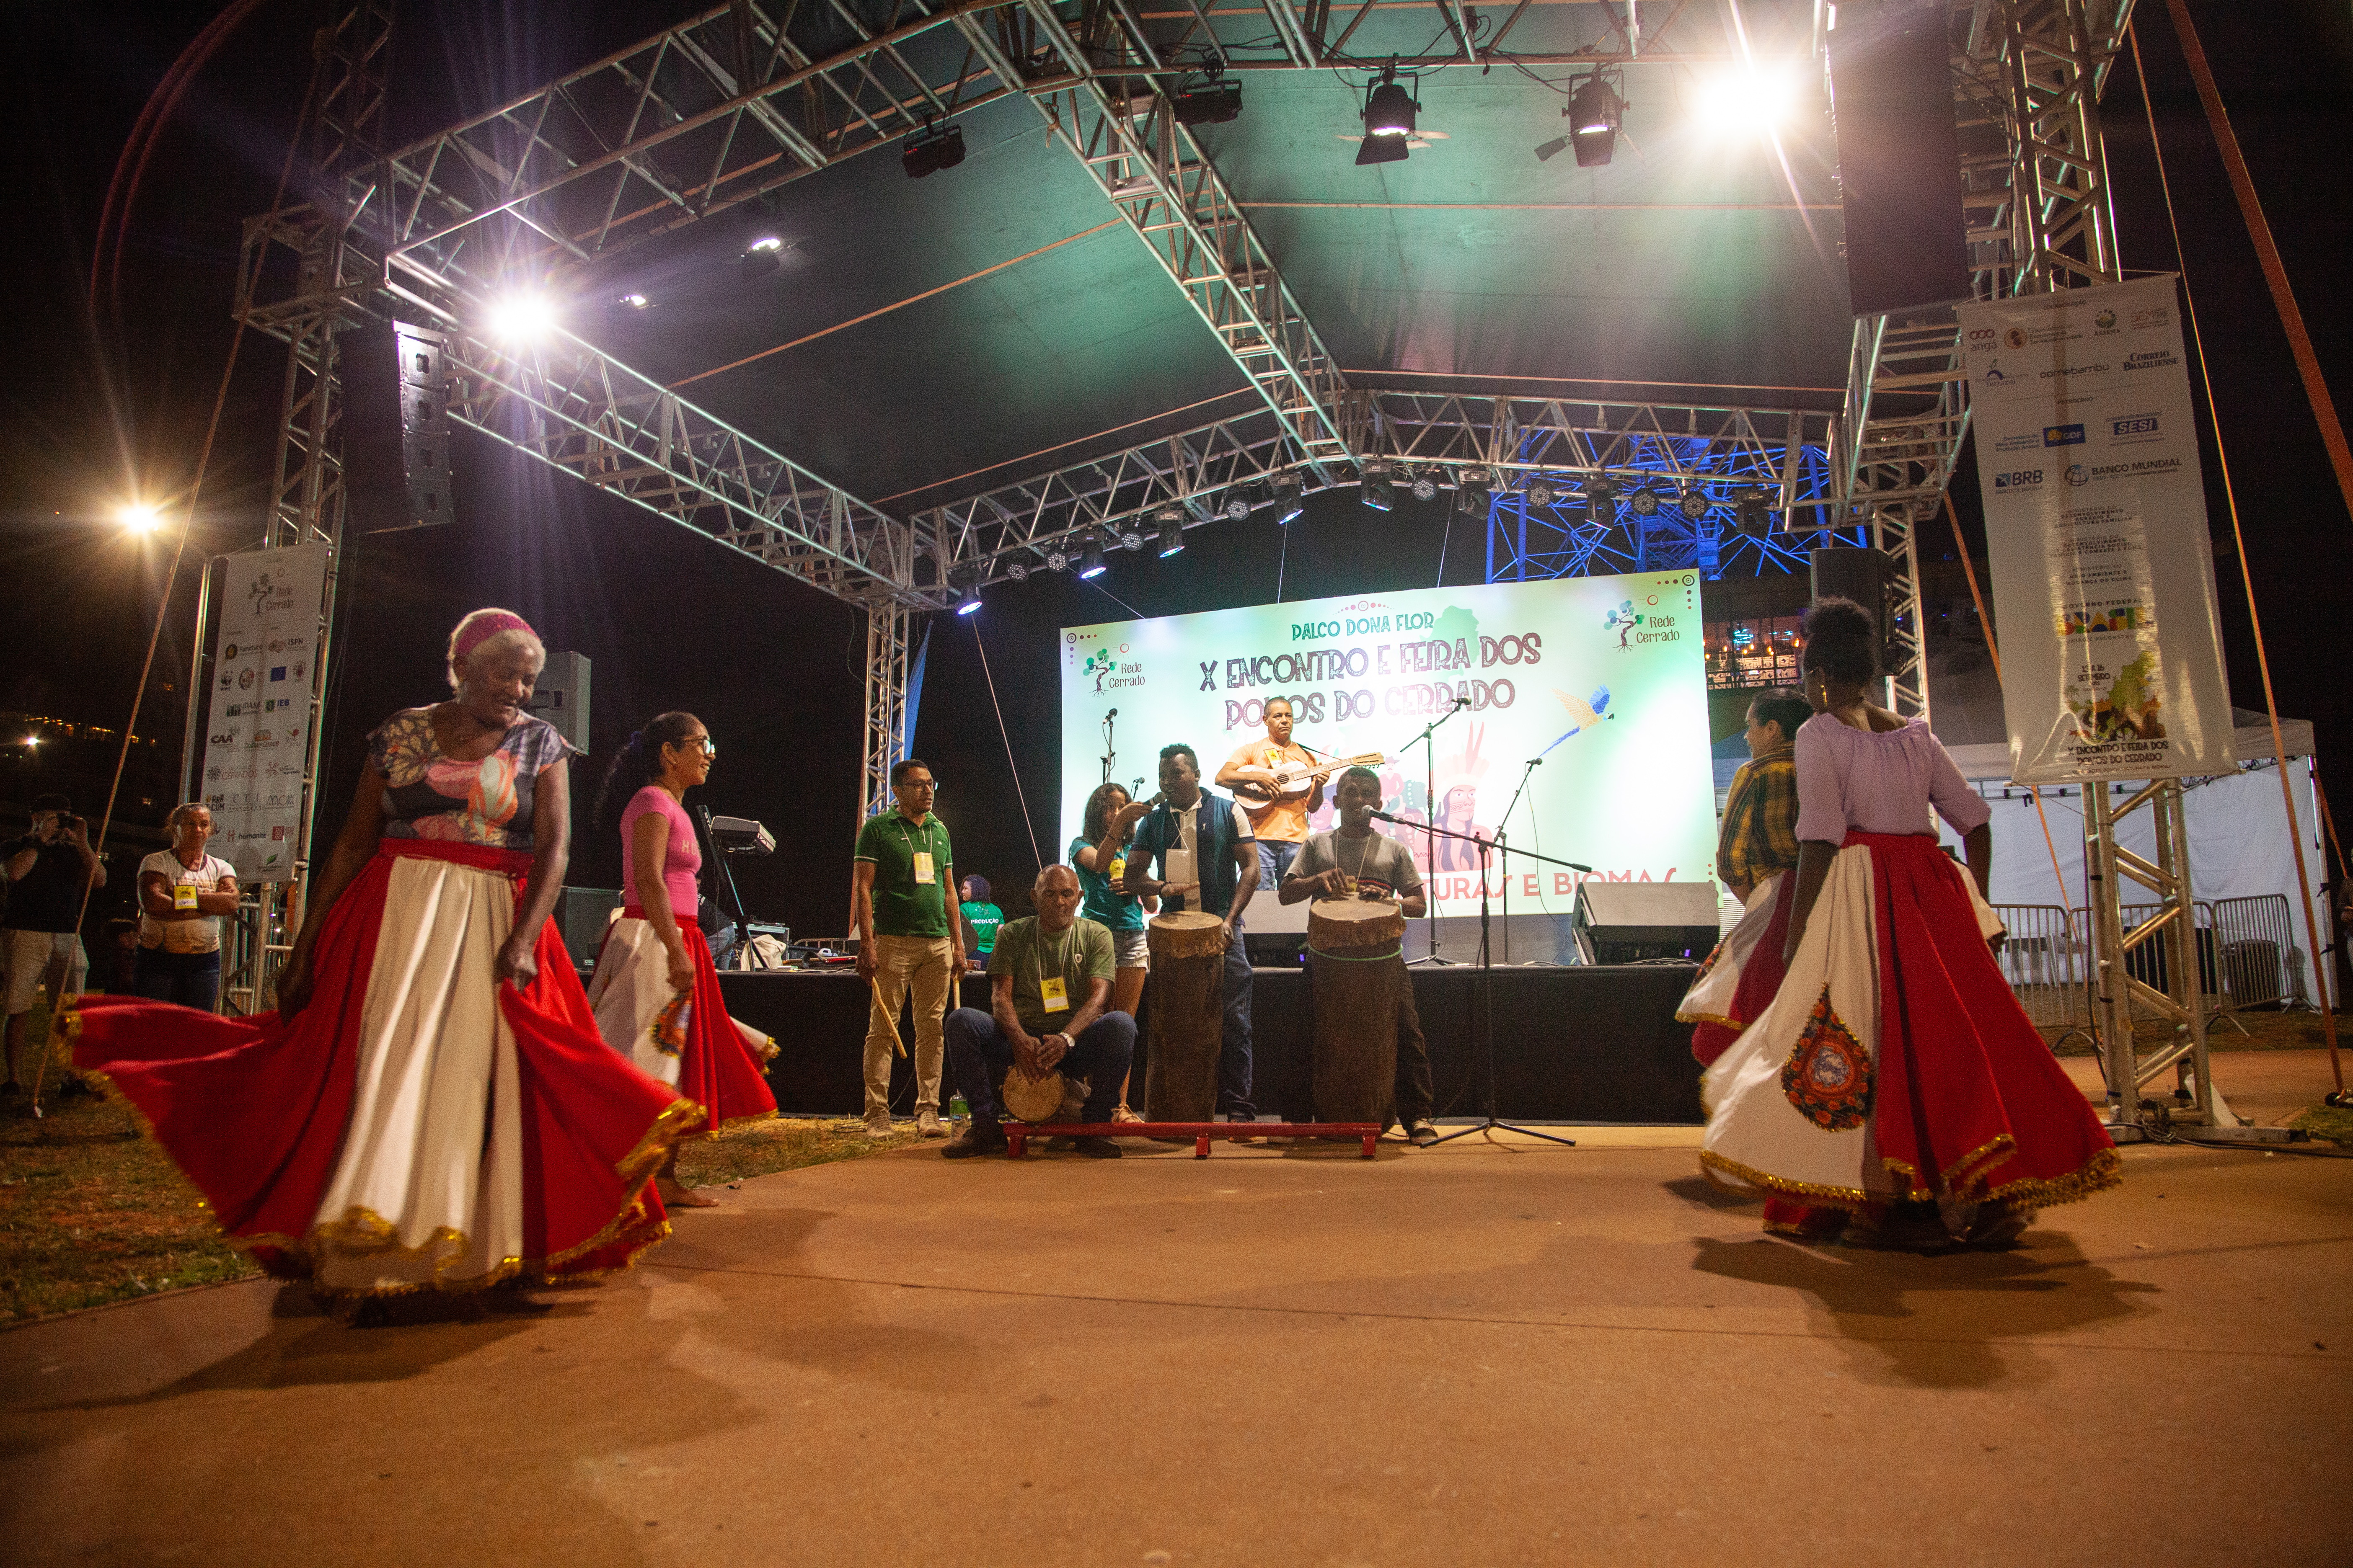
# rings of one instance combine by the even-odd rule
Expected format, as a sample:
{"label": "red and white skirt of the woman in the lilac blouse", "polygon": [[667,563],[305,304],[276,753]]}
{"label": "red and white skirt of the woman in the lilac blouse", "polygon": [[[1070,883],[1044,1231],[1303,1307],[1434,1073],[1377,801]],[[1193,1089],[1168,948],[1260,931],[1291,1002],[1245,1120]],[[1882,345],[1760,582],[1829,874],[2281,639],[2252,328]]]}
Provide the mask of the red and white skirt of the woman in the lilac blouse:
{"label": "red and white skirt of the woman in the lilac blouse", "polygon": [[1772,1004],[1701,1077],[1715,1182],[1857,1211],[2066,1204],[2120,1180],[1962,884],[1932,837],[1847,835]]}

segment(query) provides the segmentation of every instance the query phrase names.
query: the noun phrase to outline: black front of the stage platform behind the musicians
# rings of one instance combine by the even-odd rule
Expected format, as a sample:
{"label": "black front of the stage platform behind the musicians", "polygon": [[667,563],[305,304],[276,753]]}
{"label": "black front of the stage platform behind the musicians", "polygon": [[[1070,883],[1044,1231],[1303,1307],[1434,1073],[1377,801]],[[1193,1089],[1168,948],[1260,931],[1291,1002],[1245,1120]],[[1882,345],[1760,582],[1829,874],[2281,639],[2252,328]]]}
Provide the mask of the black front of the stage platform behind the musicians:
{"label": "black front of the stage platform behind the musicians", "polygon": [[[1473,1077],[1471,1009],[1478,971],[1417,966],[1414,1001],[1431,1041],[1431,1077],[1440,1117],[1475,1117],[1482,1084]],[[1675,1004],[1692,985],[1687,964],[1494,971],[1497,1114],[1520,1121],[1704,1121],[1692,1030]],[[965,1006],[988,1006],[986,976],[967,976]],[[776,1037],[769,1067],[786,1112],[854,1117],[861,1107],[859,1041],[868,990],[854,973],[722,973],[727,1011]],[[1144,1011],[1153,992],[1144,987]],[[913,1039],[906,1020],[899,1032]],[[1308,978],[1299,969],[1261,969],[1254,987],[1254,1100],[1259,1114],[1313,1119]],[[941,1091],[941,1100],[953,1095]],[[1129,1103],[1144,1105],[1144,1041]],[[892,1070],[892,1110],[911,1114],[913,1074]]]}

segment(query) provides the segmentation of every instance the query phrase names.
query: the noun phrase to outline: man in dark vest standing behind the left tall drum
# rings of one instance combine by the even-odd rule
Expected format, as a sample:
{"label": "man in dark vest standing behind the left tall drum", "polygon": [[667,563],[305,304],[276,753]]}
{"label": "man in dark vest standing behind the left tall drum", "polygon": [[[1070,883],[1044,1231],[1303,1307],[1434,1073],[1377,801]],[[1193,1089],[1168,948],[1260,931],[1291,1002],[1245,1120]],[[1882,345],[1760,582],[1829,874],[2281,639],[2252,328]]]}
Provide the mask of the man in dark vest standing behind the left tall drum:
{"label": "man in dark vest standing behind the left tall drum", "polygon": [[[1158,896],[1165,912],[1205,910],[1226,922],[1226,1027],[1217,1058],[1217,1110],[1226,1121],[1257,1121],[1249,1103],[1249,954],[1242,910],[1259,889],[1259,844],[1231,799],[1200,788],[1191,745],[1160,748],[1167,797],[1136,823],[1120,891]],[[1160,875],[1153,875],[1153,860]]]}

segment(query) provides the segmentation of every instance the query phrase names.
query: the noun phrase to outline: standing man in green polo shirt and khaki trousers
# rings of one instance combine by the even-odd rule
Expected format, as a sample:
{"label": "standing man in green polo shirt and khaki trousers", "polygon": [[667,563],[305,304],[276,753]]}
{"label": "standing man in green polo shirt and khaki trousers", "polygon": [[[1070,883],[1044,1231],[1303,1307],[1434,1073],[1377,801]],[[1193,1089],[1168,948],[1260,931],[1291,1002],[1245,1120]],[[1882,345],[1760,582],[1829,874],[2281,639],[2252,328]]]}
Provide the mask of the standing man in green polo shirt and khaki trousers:
{"label": "standing man in green polo shirt and khaki trousers", "polygon": [[915,1131],[946,1138],[939,1124],[939,1020],[965,971],[958,924],[955,851],[932,816],[932,769],[915,757],[889,771],[896,811],[859,827],[849,865],[849,919],[859,929],[859,978],[873,987],[866,1011],[866,1131],[887,1138],[889,1058],[899,1051],[899,1006],[915,992]]}

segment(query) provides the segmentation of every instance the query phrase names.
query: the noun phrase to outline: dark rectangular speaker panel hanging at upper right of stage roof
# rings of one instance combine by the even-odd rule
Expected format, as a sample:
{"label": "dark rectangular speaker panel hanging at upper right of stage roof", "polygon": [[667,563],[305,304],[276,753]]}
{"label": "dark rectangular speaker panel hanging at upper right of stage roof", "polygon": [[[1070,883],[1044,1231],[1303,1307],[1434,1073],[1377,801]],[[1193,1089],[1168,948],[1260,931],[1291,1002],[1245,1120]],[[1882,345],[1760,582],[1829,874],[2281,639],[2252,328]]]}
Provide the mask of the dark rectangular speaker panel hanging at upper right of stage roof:
{"label": "dark rectangular speaker panel hanging at upper right of stage roof", "polygon": [[1951,9],[1944,0],[1845,0],[1833,12],[1831,122],[1854,315],[1969,299]]}

